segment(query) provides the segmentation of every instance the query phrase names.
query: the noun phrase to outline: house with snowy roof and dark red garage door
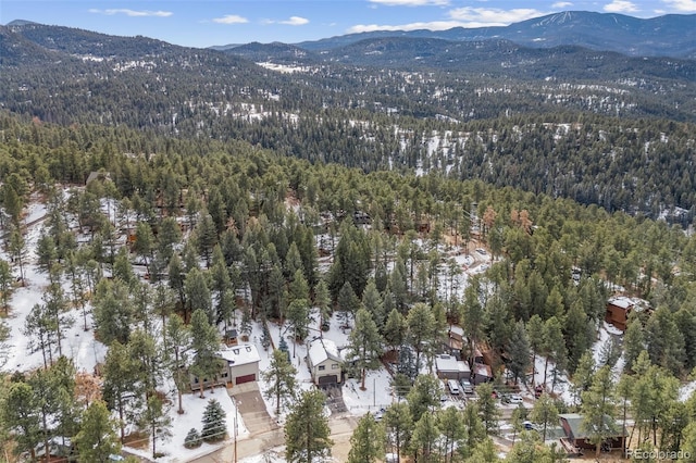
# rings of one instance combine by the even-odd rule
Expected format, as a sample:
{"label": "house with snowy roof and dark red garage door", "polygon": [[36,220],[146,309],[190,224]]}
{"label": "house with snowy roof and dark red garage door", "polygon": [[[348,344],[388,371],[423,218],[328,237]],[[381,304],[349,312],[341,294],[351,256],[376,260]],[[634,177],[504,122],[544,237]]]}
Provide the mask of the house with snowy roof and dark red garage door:
{"label": "house with snowy roof and dark red garage door", "polygon": [[[259,379],[259,351],[253,345],[224,346],[217,356],[221,360],[220,373],[214,378],[203,378],[203,387],[236,386]],[[200,379],[189,375],[191,390],[200,388]]]}

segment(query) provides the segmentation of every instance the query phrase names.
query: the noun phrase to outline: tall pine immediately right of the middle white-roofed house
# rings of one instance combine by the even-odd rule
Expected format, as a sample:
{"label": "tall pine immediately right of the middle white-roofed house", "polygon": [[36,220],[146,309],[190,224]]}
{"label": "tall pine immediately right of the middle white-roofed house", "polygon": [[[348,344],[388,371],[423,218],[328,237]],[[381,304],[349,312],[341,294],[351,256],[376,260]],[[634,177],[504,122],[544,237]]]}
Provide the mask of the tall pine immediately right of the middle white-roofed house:
{"label": "tall pine immediately right of the middle white-roofed house", "polygon": [[365,390],[365,375],[368,370],[380,367],[382,354],[382,336],[372,315],[364,308],[358,310],[356,326],[348,335],[347,359],[355,362],[360,371],[360,389]]}

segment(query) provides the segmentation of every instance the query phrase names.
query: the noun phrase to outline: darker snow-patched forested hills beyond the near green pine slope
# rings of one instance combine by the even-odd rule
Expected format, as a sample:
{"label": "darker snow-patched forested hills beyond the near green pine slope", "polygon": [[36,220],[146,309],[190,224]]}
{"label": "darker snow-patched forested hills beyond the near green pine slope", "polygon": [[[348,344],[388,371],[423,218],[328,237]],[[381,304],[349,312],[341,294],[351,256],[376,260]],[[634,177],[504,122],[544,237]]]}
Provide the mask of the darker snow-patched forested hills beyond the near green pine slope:
{"label": "darker snow-patched forested hills beyond the near green pine slope", "polygon": [[277,45],[239,49],[295,55],[289,73],[234,49],[140,37],[38,25],[2,37],[0,100],[40,121],[244,139],[365,172],[478,178],[682,225],[694,216],[689,60],[424,39],[359,42],[320,63]]}

